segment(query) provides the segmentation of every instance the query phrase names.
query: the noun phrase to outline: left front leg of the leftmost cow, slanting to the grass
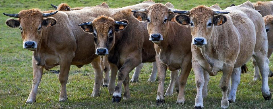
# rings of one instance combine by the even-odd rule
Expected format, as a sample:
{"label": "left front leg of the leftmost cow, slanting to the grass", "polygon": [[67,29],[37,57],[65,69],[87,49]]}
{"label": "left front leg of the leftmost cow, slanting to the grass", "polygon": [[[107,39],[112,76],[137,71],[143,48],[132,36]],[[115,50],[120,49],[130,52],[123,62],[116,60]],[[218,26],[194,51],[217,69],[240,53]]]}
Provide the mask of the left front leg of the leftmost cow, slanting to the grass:
{"label": "left front leg of the leftmost cow, slanting to the grass", "polygon": [[44,67],[36,65],[37,61],[32,57],[32,69],[33,69],[33,80],[32,80],[32,89],[28,96],[26,103],[32,103],[36,101],[36,95],[38,91],[38,86],[41,82],[42,75],[44,72]]}

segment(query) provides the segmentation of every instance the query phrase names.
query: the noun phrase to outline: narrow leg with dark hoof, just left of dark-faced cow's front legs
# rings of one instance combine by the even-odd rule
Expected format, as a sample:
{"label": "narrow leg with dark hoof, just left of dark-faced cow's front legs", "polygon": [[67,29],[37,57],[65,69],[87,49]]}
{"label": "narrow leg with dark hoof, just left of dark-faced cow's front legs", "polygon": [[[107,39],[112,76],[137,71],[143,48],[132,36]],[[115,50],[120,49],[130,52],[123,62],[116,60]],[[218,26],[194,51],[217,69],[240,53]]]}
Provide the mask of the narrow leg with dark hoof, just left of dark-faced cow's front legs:
{"label": "narrow leg with dark hoof, just left of dark-faced cow's front legs", "polygon": [[110,65],[107,59],[107,56],[103,57],[103,64],[104,64],[104,81],[102,87],[108,87],[109,83],[109,72],[110,72]]}

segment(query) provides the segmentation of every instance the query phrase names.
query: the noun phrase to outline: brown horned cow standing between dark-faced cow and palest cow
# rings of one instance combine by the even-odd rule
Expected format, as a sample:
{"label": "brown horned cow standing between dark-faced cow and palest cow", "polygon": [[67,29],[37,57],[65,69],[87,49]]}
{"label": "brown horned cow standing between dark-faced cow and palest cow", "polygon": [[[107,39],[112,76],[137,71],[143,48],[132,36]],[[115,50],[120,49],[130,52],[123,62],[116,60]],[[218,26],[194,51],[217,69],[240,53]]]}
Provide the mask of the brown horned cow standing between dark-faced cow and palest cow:
{"label": "brown horned cow standing between dark-faced cow and palest cow", "polygon": [[[156,104],[164,103],[164,80],[166,70],[181,73],[177,79],[179,84],[179,94],[177,103],[185,102],[184,90],[187,78],[191,71],[191,31],[189,27],[182,27],[175,23],[173,13],[174,6],[171,3],[156,3],[146,9],[133,10],[135,18],[144,22],[148,22],[149,40],[154,43],[156,50],[156,65],[158,68],[158,91],[156,96]],[[171,74],[172,75],[172,74]],[[209,80],[208,73],[207,80]],[[204,87],[207,88],[207,87]],[[204,89],[204,96],[207,95]]]}

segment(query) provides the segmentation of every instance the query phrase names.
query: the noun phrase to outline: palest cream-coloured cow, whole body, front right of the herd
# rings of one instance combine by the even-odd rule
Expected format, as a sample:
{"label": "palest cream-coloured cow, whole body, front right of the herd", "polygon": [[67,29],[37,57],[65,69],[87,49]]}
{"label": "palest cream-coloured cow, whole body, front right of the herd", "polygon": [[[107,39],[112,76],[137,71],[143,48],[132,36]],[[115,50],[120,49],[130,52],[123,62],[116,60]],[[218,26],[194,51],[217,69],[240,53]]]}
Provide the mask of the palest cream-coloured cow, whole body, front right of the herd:
{"label": "palest cream-coloured cow, whole body, front right of the herd", "polygon": [[[203,108],[202,88],[204,71],[210,76],[223,72],[221,108],[228,108],[235,101],[240,82],[240,67],[253,56],[262,75],[262,95],[271,99],[268,87],[269,59],[268,41],[262,16],[251,2],[215,11],[204,5],[179,13],[175,20],[180,25],[190,26],[192,35],[192,67],[195,73],[197,95],[195,108]],[[229,87],[230,80],[232,81]]]}

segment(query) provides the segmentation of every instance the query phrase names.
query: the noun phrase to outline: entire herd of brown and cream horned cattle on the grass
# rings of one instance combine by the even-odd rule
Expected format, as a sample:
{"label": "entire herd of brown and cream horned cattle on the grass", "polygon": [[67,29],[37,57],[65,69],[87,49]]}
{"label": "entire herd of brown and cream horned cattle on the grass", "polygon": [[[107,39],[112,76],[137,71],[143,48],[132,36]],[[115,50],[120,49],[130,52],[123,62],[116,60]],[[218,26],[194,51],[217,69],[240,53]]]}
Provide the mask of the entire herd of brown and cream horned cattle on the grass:
{"label": "entire herd of brown and cream horned cattle on the grass", "polygon": [[[57,11],[3,13],[18,18],[8,19],[6,24],[19,27],[23,47],[33,51],[33,84],[27,103],[36,101],[43,70],[57,65],[59,101],[66,101],[70,65],[80,68],[89,63],[95,71],[91,96],[99,96],[102,85],[108,87],[112,102],[120,102],[123,84],[123,99],[127,100],[129,72],[137,67],[131,79],[136,82],[143,63],[152,62],[148,81],[155,81],[158,72],[157,104],[164,103],[174,87],[179,92],[177,103],[183,104],[187,78],[193,69],[197,87],[194,108],[204,107],[209,76],[219,71],[223,72],[221,108],[228,108],[229,102],[235,102],[241,72],[247,70],[245,63],[251,57],[255,66],[253,80],[259,80],[261,74],[262,96],[265,100],[272,97],[268,76],[273,74],[268,58],[273,52],[273,1],[247,1],[224,10],[217,4],[200,5],[189,11],[151,0],[123,8],[109,8],[106,3],[94,7],[71,8],[65,3],[52,6]],[[171,70],[171,82],[164,95],[167,69]]]}

